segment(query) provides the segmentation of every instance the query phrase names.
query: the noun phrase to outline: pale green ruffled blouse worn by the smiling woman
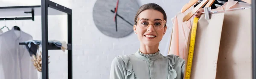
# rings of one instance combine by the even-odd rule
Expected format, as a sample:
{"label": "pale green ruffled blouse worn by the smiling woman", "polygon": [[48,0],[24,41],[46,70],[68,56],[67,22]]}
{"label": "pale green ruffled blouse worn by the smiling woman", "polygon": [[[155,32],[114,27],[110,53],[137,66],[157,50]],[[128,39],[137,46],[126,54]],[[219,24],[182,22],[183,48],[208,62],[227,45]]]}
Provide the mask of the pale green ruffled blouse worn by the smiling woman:
{"label": "pale green ruffled blouse worn by the smiling woman", "polygon": [[137,51],[113,59],[110,79],[183,79],[184,68],[185,61],[179,56]]}

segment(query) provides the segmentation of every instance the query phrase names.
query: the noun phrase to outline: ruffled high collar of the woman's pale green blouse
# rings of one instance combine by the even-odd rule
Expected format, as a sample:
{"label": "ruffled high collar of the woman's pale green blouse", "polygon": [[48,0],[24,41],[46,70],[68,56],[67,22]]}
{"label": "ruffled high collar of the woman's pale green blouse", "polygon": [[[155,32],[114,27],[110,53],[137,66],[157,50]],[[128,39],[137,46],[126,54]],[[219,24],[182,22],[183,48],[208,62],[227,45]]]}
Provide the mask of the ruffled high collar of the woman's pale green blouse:
{"label": "ruffled high collar of the woman's pale green blouse", "polygon": [[135,56],[139,59],[145,60],[145,61],[154,61],[161,57],[160,51],[158,50],[155,54],[143,54],[138,50],[135,53]]}

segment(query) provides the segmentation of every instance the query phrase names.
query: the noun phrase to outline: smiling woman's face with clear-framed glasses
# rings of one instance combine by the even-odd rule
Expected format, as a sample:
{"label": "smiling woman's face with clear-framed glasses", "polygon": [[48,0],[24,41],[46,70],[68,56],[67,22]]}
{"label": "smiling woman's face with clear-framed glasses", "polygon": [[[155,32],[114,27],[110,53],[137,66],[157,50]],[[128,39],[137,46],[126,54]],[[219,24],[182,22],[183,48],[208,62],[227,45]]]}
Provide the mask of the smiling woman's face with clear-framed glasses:
{"label": "smiling woman's face with clear-framed glasses", "polygon": [[140,42],[148,46],[159,44],[167,28],[164,27],[166,23],[163,14],[157,10],[147,9],[142,11],[138,18],[140,19],[137,20],[137,25],[134,25],[134,32]]}

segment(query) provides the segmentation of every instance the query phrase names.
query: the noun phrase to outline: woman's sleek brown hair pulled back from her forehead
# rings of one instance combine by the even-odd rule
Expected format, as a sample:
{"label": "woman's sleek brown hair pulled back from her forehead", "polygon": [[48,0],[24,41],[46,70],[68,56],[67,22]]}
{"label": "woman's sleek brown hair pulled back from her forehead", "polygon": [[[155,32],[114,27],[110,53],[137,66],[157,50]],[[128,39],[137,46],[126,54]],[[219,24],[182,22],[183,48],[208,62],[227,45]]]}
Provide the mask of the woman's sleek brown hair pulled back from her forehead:
{"label": "woman's sleek brown hair pulled back from her forehead", "polygon": [[153,9],[153,10],[160,11],[163,14],[163,20],[166,20],[166,22],[167,22],[166,13],[165,13],[165,11],[163,10],[163,8],[161,6],[159,6],[159,5],[155,4],[155,3],[147,3],[147,4],[144,4],[144,5],[140,6],[139,10],[137,11],[137,13],[135,15],[135,18],[134,18],[134,25],[137,25],[136,20],[137,20],[139,14],[142,11],[147,10],[147,9]]}

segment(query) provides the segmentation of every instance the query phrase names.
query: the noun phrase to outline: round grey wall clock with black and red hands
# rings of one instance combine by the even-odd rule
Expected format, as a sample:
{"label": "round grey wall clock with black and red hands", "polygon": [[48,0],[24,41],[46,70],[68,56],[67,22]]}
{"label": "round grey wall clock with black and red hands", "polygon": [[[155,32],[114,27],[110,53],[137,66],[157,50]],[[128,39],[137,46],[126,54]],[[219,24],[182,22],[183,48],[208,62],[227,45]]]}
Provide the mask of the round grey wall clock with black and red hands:
{"label": "round grey wall clock with black and red hands", "polygon": [[134,17],[139,8],[137,0],[97,0],[93,7],[93,21],[103,34],[125,37],[133,32]]}

